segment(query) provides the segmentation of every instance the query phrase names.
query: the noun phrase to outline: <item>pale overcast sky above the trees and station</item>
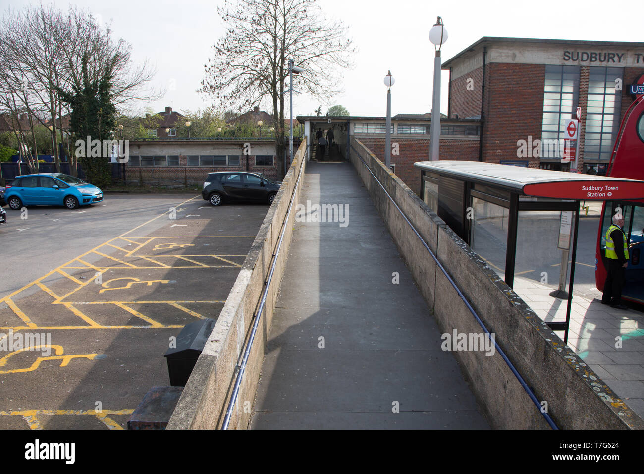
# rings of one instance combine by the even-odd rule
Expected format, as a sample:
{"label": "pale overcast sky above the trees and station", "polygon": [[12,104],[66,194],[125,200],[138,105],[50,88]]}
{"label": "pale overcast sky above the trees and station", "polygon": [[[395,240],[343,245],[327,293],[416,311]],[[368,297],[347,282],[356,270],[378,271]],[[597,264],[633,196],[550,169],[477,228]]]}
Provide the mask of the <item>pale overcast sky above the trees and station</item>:
{"label": "pale overcast sky above the trees and station", "polygon": [[[0,0],[0,9],[4,13],[9,6],[19,9],[30,3],[35,5],[23,0]],[[223,0],[67,3],[58,0],[55,5],[66,9],[68,3],[90,10],[102,21],[111,21],[115,36],[132,44],[134,61],[147,59],[153,64],[154,85],[165,89],[166,94],[146,106],[155,112],[165,106],[185,112],[213,104],[196,90],[204,79],[204,64],[213,55],[212,46],[223,36],[223,23],[217,14],[217,6],[223,5]],[[483,36],[644,41],[640,15],[629,12],[629,5],[638,2],[317,0],[316,3],[326,15],[345,23],[358,50],[354,68],[344,73],[341,84],[344,94],[321,104],[323,114],[328,106],[342,104],[351,115],[384,115],[383,78],[388,70],[395,79],[392,114],[429,112],[434,48],[428,33],[438,15],[449,33],[442,47],[443,62]],[[447,111],[448,78],[448,72],[443,72],[442,112]],[[318,105],[319,101],[306,95],[296,95],[294,115],[312,114]]]}

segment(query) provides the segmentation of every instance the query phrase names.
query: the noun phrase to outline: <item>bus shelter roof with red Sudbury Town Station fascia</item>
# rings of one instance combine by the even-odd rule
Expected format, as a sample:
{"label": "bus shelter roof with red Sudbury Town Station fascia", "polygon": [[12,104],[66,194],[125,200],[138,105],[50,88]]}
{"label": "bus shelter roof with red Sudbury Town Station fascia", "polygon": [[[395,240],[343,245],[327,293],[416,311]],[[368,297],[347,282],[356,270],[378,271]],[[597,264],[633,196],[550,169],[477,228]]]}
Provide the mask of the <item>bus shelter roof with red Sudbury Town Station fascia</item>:
{"label": "bus shelter roof with red Sudbury Town Station fascia", "polygon": [[553,199],[614,201],[644,199],[644,181],[542,170],[481,161],[419,161],[421,170],[460,181],[487,184],[521,195]]}

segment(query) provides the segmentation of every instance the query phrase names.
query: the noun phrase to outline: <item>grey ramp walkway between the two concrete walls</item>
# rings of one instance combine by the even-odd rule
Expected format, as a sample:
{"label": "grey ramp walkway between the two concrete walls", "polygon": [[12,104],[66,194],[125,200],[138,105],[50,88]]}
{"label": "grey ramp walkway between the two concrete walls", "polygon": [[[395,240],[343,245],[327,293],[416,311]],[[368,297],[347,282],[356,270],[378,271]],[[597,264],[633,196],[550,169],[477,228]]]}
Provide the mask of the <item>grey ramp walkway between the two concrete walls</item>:
{"label": "grey ramp walkway between the two concrete walls", "polygon": [[[488,429],[354,168],[302,179],[250,428]],[[315,204],[345,220],[315,222]]]}

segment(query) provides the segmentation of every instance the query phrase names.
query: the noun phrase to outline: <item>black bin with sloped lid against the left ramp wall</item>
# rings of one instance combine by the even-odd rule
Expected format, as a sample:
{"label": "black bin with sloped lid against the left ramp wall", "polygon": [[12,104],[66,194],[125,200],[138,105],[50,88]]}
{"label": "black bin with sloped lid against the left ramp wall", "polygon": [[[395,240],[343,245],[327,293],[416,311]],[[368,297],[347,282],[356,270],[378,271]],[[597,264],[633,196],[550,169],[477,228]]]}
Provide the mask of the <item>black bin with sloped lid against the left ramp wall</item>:
{"label": "black bin with sloped lid against the left ramp wall", "polygon": [[172,386],[185,387],[213,328],[213,319],[200,319],[186,324],[176,337],[176,348],[166,351],[164,357],[167,359],[167,371]]}

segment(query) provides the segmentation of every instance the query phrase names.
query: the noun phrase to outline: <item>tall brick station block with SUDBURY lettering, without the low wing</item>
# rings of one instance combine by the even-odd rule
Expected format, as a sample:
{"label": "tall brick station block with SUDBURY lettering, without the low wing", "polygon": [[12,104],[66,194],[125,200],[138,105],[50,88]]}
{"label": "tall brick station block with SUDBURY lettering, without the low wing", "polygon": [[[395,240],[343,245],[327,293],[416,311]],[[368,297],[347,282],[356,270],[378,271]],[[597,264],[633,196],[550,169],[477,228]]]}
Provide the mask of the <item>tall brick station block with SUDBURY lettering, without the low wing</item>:
{"label": "tall brick station block with SUDBURY lettering, without the low wing", "polygon": [[604,173],[644,43],[482,37],[442,67],[448,115],[481,121],[481,161],[569,170],[558,145],[579,107],[576,167]]}

